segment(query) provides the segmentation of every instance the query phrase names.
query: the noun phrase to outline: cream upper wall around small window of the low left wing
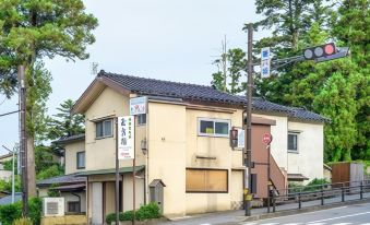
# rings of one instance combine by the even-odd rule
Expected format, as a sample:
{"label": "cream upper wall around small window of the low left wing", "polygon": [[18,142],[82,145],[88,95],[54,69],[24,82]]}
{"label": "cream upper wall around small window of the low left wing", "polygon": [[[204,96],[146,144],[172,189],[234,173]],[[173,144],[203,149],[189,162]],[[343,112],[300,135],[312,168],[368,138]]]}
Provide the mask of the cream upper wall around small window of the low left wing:
{"label": "cream upper wall around small window of the low left wing", "polygon": [[77,142],[68,143],[65,144],[64,150],[65,150],[65,174],[68,175],[85,170],[83,168],[77,169],[77,152],[85,151],[85,141],[81,140]]}

